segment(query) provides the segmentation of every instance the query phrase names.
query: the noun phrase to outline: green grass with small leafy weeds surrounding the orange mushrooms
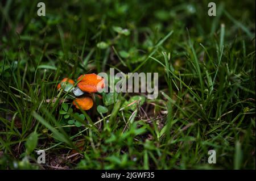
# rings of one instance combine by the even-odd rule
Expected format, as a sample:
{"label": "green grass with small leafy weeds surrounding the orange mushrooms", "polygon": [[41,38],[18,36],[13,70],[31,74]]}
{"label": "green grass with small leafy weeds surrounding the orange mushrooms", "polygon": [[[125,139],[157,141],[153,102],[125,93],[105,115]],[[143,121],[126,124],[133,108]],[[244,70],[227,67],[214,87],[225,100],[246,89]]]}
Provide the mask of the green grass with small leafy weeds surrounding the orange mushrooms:
{"label": "green grass with small leafy weeds surrounding the orange mushrooms", "polygon": [[[255,169],[254,1],[44,2],[0,2],[1,169]],[[109,68],[158,72],[158,98],[56,90]]]}

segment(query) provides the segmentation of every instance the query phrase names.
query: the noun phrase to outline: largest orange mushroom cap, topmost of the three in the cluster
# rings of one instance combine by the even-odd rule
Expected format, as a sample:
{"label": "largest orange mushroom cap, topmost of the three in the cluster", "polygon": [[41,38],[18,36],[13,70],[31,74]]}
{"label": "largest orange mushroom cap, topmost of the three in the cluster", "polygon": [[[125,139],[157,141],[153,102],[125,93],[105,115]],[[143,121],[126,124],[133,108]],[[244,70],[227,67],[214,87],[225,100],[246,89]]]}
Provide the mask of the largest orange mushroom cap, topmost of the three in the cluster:
{"label": "largest orange mushroom cap, topmost of the three in the cluster", "polygon": [[104,88],[104,78],[94,73],[80,75],[77,81],[80,81],[77,86],[84,92],[97,92],[97,86],[100,89]]}

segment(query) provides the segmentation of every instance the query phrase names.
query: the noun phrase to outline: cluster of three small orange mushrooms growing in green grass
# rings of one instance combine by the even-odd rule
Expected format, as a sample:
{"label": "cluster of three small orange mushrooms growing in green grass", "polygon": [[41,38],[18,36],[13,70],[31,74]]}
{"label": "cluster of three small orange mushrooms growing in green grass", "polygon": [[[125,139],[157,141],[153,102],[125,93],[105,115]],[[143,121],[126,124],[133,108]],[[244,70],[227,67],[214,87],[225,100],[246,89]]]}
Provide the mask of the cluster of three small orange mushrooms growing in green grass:
{"label": "cluster of three small orange mushrooms growing in green grass", "polygon": [[[77,87],[73,87],[71,91],[73,91],[75,96],[81,96],[84,92],[94,93],[99,89],[104,88],[104,78],[100,77],[96,74],[83,74],[77,78]],[[72,79],[64,78],[58,85],[57,89],[61,89],[66,85],[75,85],[75,82]],[[89,110],[93,107],[93,99],[89,95],[82,96],[73,100],[73,105],[81,110]]]}

